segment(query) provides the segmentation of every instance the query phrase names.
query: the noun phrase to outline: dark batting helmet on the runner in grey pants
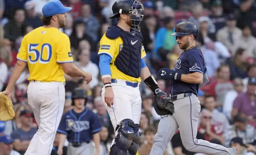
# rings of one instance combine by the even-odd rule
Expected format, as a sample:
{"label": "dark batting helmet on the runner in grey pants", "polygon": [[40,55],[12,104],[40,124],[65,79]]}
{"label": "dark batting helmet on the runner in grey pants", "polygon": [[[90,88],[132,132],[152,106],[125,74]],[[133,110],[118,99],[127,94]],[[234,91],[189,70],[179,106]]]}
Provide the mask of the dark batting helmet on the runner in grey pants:
{"label": "dark batting helmet on the runner in grey pants", "polygon": [[181,22],[175,27],[175,32],[171,36],[186,36],[193,34],[198,39],[198,28],[191,22]]}

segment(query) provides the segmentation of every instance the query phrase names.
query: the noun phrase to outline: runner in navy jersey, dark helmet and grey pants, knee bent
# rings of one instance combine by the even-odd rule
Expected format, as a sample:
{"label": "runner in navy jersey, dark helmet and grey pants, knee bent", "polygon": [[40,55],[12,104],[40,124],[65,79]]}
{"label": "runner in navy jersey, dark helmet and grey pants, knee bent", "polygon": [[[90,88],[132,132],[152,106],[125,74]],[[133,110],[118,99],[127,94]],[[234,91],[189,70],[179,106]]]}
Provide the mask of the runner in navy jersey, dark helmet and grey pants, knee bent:
{"label": "runner in navy jersey, dark helmet and grey pants, knee bent", "polygon": [[[176,25],[176,42],[184,52],[180,55],[174,68],[162,68],[158,76],[171,80],[171,99],[175,106],[173,115],[165,115],[159,122],[157,134],[150,155],[163,155],[166,145],[170,142],[176,130],[180,130],[180,137],[186,150],[209,155],[237,155],[235,148],[226,148],[196,139],[198,117],[201,106],[197,98],[198,88],[208,82],[204,56],[200,48],[196,47],[198,28],[190,22]],[[205,83],[206,83],[205,82]]]}

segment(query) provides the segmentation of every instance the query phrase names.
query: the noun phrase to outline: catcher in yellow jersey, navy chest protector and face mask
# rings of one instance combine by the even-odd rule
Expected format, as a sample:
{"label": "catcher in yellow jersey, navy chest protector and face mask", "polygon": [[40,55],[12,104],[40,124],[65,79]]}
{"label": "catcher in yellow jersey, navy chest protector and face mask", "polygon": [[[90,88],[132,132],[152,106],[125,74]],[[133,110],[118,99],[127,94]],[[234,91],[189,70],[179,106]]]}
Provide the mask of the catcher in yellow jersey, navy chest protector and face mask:
{"label": "catcher in yellow jersey, navy chest protector and face mask", "polygon": [[99,68],[103,79],[102,99],[106,103],[116,136],[110,155],[136,155],[141,139],[139,132],[142,99],[141,79],[157,98],[165,98],[145,64],[140,22],[143,5],[137,0],[118,0],[112,6],[118,18],[103,35],[99,49]]}

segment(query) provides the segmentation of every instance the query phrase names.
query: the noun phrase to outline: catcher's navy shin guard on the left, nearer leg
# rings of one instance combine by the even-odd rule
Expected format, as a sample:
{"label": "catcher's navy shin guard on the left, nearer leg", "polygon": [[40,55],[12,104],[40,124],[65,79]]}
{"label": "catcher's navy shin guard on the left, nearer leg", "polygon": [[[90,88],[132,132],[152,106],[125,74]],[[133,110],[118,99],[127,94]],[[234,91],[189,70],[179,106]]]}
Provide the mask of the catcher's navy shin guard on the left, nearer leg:
{"label": "catcher's navy shin guard on the left, nearer leg", "polygon": [[118,125],[117,136],[115,143],[111,147],[109,155],[126,155],[128,149],[132,145],[133,139],[136,136],[134,132],[136,125],[130,119],[124,119]]}

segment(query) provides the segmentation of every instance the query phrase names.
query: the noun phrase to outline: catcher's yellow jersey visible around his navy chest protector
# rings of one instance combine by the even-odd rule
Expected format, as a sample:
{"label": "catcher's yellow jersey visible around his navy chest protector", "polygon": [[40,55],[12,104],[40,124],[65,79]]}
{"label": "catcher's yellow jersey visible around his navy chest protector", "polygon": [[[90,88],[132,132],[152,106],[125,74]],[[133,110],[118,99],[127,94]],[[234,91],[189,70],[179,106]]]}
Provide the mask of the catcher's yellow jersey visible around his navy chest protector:
{"label": "catcher's yellow jersey visible around his navy chest protector", "polygon": [[[106,35],[104,34],[100,41],[100,49],[99,49],[98,55],[102,53],[108,54],[112,58],[111,60],[111,63],[112,63],[116,60],[118,53],[122,50],[122,47],[123,47],[123,40],[121,37],[111,40],[107,38]],[[142,45],[142,59],[145,56],[146,56],[145,49]],[[122,73],[120,70],[116,68],[114,63],[110,64],[110,69],[111,69],[111,79],[122,79],[125,81],[141,82],[140,77],[135,78]]]}

